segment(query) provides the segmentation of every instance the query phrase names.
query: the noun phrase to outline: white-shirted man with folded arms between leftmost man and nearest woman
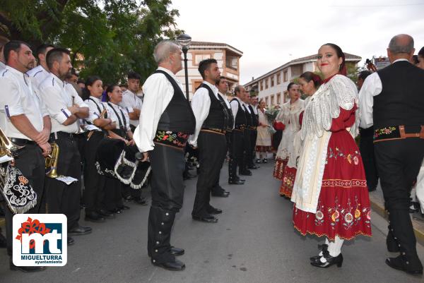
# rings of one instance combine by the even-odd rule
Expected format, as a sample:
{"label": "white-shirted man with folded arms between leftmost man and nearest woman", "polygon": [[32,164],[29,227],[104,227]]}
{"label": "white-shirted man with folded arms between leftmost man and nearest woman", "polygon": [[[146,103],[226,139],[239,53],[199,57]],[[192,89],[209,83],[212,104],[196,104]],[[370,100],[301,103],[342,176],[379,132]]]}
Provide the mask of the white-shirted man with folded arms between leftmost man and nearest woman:
{"label": "white-shirted man with folded arms between leftmost man and nearest woman", "polygon": [[[78,224],[81,200],[81,156],[74,137],[78,131],[78,119],[88,117],[88,105],[76,95],[69,92],[64,81],[71,71],[69,50],[50,49],[46,56],[49,75],[39,85],[40,97],[45,102],[52,119],[50,142],[59,146],[57,174],[70,176],[78,181],[69,185],[63,181],[46,178],[46,201],[49,213],[62,213],[68,220],[68,235],[83,235],[91,232],[90,227]],[[73,95],[72,95],[73,93]],[[68,245],[73,239],[68,237]]]}

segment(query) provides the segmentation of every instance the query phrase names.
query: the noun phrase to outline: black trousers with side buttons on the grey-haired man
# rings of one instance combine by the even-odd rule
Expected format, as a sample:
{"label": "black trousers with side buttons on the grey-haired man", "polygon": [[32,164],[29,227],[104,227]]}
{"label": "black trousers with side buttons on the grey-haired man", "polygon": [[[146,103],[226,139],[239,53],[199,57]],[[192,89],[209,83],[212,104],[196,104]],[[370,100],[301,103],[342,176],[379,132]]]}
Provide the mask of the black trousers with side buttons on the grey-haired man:
{"label": "black trousers with side buttons on the grey-haired man", "polygon": [[148,216],[148,255],[156,263],[175,260],[170,253],[170,239],[175,214],[184,198],[184,150],[155,144],[149,152],[152,168],[152,206]]}

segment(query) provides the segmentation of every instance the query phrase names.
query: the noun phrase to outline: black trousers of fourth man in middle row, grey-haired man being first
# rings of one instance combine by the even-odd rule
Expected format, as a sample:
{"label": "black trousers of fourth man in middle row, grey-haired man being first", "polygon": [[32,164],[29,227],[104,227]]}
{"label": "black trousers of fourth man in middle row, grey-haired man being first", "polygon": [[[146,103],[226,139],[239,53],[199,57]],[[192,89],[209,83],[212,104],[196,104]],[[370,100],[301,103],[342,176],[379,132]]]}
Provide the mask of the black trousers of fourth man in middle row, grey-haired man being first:
{"label": "black trousers of fourth man in middle row, grey-haired man being first", "polygon": [[[228,162],[228,181],[237,179],[237,165],[240,167],[242,164],[244,144],[244,131],[233,130],[230,143],[230,161]],[[242,167],[239,169],[242,169]]]}

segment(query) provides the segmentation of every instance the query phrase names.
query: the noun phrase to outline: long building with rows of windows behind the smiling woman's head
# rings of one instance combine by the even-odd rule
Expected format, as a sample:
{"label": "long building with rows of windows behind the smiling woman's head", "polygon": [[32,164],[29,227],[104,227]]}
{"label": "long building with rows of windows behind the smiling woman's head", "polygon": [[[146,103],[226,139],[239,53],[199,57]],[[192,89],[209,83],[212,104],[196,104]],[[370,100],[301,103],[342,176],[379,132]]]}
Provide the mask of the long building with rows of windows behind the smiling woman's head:
{"label": "long building with rows of windows behind the smiling woman's head", "polygon": [[[357,66],[360,56],[345,53],[346,66]],[[269,71],[259,78],[252,79],[244,86],[258,94],[259,100],[264,99],[266,105],[283,104],[288,101],[287,87],[290,82],[306,71],[316,72],[317,55],[306,56],[289,61],[278,68]]]}

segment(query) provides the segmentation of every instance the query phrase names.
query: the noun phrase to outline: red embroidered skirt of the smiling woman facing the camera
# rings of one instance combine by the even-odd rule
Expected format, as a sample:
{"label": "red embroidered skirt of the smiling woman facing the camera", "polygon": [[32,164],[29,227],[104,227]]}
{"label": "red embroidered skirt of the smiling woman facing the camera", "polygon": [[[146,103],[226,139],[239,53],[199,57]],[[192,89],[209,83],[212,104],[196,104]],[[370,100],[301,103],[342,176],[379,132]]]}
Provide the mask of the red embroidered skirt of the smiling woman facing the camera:
{"label": "red embroidered skirt of the smiling woman facing the camera", "polygon": [[363,161],[347,131],[333,133],[319,193],[317,213],[293,208],[293,224],[302,235],[333,240],[371,236],[371,208]]}

